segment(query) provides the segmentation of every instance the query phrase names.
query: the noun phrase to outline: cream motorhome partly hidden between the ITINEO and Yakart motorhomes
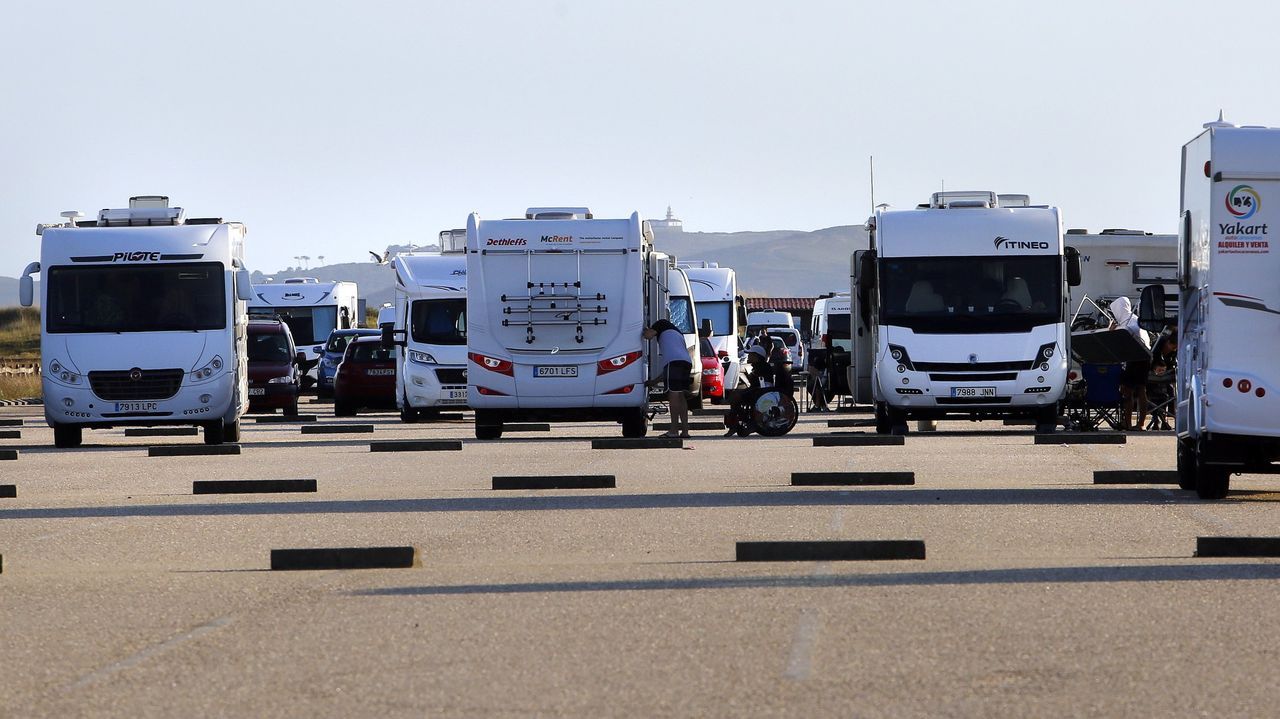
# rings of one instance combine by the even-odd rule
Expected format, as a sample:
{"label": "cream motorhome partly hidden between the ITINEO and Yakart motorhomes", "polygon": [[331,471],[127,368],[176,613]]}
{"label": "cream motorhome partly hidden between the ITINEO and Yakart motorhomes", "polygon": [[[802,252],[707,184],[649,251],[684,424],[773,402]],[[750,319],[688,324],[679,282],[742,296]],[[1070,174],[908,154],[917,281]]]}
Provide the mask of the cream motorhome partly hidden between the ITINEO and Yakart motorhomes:
{"label": "cream motorhome partly hidden between the ITINEO and Yakart motorhomes", "polygon": [[[1106,229],[1092,234],[1066,230],[1066,244],[1080,253],[1080,284],[1071,288],[1071,316],[1084,325],[1106,326],[1098,307],[1119,297],[1138,306],[1143,288],[1165,287],[1166,316],[1178,313],[1178,235],[1143,230]],[[1085,302],[1088,297],[1093,303]]]}

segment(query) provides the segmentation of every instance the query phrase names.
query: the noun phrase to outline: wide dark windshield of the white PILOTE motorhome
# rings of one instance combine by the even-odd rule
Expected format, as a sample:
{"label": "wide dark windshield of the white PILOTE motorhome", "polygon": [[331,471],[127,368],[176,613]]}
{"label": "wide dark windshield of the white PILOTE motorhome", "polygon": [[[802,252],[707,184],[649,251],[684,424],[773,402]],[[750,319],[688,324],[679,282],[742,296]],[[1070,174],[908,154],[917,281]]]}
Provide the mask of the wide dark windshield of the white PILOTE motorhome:
{"label": "wide dark windshield of the white PILOTE motorhome", "polygon": [[46,330],[154,333],[227,328],[218,262],[49,269]]}

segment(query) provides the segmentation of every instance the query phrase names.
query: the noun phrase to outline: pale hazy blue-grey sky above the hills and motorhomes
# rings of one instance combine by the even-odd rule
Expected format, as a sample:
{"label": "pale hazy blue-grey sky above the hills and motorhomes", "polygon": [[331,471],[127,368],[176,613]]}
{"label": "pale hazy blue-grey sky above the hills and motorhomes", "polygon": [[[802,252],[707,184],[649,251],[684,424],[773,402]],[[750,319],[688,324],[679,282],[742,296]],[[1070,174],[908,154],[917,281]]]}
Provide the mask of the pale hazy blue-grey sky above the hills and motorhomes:
{"label": "pale hazy blue-grey sky above the hills and motorhomes", "polygon": [[1179,147],[1280,125],[1275,3],[4,4],[0,274],[131,194],[248,225],[248,264],[360,261],[470,211],[675,206],[690,230],[1029,193],[1172,232]]}

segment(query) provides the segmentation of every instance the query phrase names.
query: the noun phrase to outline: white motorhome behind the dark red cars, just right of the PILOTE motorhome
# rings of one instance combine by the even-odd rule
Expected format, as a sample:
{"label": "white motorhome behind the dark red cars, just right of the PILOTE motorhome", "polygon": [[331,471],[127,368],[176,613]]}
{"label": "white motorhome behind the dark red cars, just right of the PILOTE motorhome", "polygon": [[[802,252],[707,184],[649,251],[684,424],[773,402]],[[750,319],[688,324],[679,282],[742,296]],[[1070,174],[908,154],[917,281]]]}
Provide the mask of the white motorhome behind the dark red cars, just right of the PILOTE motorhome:
{"label": "white motorhome behind the dark red cars, just right of the PILOTE motorhome", "polygon": [[360,328],[365,321],[356,297],[356,283],[323,283],[316,278],[255,284],[248,313],[255,319],[279,319],[289,325],[298,352],[306,356],[302,368],[312,380],[329,333]]}

